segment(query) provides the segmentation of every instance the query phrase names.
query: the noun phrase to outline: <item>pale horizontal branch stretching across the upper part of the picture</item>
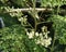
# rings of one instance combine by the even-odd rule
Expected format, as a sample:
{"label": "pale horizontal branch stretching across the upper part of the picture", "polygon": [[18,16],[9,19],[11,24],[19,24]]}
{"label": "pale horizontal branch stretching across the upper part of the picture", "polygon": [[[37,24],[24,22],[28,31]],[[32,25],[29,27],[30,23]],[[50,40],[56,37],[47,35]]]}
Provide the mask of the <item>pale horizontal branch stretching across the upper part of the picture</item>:
{"label": "pale horizontal branch stretching across the upper part of the picture", "polygon": [[[29,11],[33,11],[33,8],[25,8],[25,9],[10,9],[10,11],[8,12],[3,12],[3,13],[12,13],[12,12],[18,12],[18,11],[22,11],[22,12],[29,12]],[[45,8],[35,8],[35,11],[37,12],[43,12],[43,11],[50,11],[53,12],[53,9],[45,9]],[[61,10],[59,13],[66,13],[66,10]]]}

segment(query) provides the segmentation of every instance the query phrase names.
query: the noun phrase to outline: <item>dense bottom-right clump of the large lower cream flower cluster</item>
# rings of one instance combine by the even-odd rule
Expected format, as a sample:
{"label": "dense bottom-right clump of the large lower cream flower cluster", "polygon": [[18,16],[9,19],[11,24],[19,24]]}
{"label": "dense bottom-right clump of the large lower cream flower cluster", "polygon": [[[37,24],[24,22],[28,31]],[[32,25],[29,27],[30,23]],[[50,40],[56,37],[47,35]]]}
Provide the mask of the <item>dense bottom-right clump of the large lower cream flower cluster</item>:
{"label": "dense bottom-right clump of the large lower cream flower cluster", "polygon": [[44,38],[35,39],[36,44],[42,44],[45,48],[47,48],[51,44],[51,41],[52,41],[52,38],[47,38],[47,39],[44,39]]}

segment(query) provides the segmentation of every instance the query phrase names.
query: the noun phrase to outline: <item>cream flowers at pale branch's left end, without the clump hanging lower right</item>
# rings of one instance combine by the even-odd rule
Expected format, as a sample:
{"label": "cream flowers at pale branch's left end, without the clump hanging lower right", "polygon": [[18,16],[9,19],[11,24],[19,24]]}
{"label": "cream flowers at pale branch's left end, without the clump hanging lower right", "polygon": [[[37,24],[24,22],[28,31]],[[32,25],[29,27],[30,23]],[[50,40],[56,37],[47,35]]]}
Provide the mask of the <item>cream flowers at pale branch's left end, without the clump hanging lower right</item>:
{"label": "cream flowers at pale branch's left end, without the clump hanging lower right", "polygon": [[4,9],[6,12],[9,12],[9,14],[13,17],[13,16],[18,16],[18,17],[21,17],[23,14],[22,12],[19,10],[18,8],[18,11],[14,10],[14,6],[10,8],[10,6],[2,6],[1,9]]}

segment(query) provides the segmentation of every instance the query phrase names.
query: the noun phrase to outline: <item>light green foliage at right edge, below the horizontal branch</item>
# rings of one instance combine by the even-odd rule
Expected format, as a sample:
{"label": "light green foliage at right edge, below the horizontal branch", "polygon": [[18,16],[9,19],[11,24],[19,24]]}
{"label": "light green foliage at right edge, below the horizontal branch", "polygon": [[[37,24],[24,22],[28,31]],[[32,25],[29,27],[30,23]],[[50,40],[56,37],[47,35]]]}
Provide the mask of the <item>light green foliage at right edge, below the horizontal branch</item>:
{"label": "light green foliage at right edge, below the horizontal branch", "polygon": [[56,38],[58,38],[61,44],[66,44],[66,16],[53,15],[50,21],[54,22],[53,27],[56,30]]}

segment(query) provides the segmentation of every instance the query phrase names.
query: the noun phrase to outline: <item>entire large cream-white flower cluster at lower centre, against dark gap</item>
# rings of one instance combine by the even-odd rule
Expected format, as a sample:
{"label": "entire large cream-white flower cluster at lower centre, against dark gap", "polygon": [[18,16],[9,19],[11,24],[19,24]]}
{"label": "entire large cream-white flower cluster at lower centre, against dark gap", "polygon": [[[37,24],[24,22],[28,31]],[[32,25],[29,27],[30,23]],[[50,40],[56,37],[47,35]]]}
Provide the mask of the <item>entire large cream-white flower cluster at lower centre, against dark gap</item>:
{"label": "entire large cream-white flower cluster at lower centre, against dark gap", "polygon": [[52,41],[52,38],[47,36],[48,34],[50,34],[50,31],[47,31],[46,26],[42,27],[42,32],[40,32],[40,34],[37,31],[34,34],[34,29],[32,29],[32,31],[30,31],[30,32],[26,31],[29,39],[34,39],[36,44],[42,44],[45,48],[47,48]]}

